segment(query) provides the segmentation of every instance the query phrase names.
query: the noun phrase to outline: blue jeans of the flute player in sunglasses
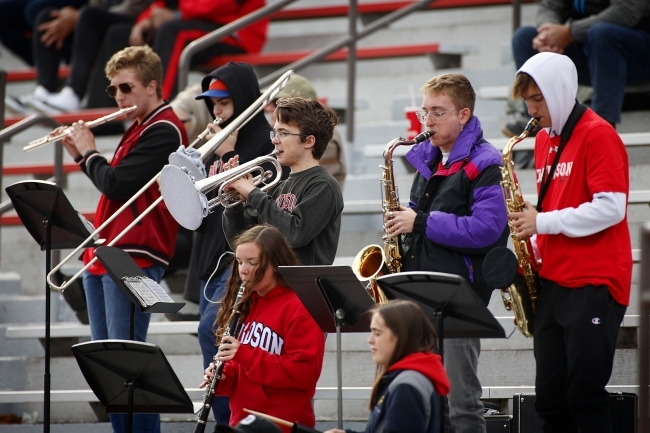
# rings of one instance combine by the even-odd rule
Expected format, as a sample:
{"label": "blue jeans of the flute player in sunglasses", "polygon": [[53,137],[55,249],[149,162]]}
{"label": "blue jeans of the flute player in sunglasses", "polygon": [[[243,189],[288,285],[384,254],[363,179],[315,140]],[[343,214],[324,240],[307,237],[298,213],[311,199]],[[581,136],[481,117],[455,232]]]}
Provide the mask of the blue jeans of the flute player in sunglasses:
{"label": "blue jeans of the flute player in sunglasses", "polygon": [[[165,268],[161,265],[152,265],[144,268],[143,271],[152,280],[160,282]],[[131,318],[131,301],[129,298],[122,293],[108,274],[93,275],[86,272],[83,276],[83,282],[92,339],[128,340]],[[136,341],[146,340],[150,319],[150,313],[141,313],[140,308],[135,309]],[[109,417],[114,432],[126,432],[126,414],[110,414]],[[160,433],[160,415],[134,415],[133,431]]]}

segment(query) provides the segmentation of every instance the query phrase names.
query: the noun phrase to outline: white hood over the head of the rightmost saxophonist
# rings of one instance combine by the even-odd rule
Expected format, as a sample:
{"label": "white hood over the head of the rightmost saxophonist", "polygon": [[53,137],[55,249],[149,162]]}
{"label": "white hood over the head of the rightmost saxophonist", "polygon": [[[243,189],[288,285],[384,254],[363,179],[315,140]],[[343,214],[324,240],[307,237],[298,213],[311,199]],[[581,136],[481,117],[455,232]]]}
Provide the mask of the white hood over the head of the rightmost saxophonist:
{"label": "white hood over the head of the rightmost saxophonist", "polygon": [[560,135],[571,114],[578,92],[578,71],[567,56],[556,53],[539,53],[531,57],[517,73],[525,72],[535,80],[544,95],[551,126],[550,137]]}

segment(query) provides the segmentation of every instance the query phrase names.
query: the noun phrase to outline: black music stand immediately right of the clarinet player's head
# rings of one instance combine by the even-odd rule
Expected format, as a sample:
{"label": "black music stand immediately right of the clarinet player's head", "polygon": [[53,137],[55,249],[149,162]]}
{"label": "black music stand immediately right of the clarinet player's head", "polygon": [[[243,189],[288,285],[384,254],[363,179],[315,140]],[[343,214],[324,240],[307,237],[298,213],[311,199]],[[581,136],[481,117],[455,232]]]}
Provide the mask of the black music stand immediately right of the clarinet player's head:
{"label": "black music stand immediately right of the clarinet player's head", "polygon": [[343,428],[341,332],[368,332],[374,302],[349,266],[280,266],[280,274],[323,332],[336,332],[338,428]]}

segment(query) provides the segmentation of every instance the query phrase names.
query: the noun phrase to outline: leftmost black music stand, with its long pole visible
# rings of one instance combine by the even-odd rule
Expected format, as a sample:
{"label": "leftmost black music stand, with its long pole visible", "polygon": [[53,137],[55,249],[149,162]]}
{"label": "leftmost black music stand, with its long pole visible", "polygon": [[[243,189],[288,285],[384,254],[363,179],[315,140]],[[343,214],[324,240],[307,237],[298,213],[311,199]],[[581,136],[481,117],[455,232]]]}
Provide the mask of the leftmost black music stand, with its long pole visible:
{"label": "leftmost black music stand, with its long pole visible", "polygon": [[[55,183],[23,181],[5,191],[23,225],[45,251],[45,275],[52,267],[52,250],[76,248],[94,231],[92,225],[70,204]],[[88,241],[92,246],[93,241]],[[50,431],[50,288],[45,283],[45,373],[43,431]]]}

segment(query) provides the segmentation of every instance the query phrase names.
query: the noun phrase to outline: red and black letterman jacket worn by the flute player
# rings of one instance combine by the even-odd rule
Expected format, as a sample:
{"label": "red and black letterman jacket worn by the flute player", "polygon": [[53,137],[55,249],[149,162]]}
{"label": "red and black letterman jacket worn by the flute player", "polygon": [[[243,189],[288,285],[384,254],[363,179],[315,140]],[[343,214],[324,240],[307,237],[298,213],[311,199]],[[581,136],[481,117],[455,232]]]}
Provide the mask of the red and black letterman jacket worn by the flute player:
{"label": "red and black letterman jacket worn by the flute player", "polygon": [[[169,154],[181,144],[187,145],[187,135],[182,123],[166,103],[145,117],[142,123],[134,121],[124,133],[109,163],[98,151],[86,152],[77,163],[102,193],[95,211],[95,227],[99,227],[128,199],[133,197],[168,163]],[[104,245],[137,218],[140,213],[160,197],[158,185],[153,184],[141,194],[99,234]],[[138,266],[153,263],[167,266],[176,248],[178,223],[169,214],[164,203],[154,208],[139,224],[124,235],[115,247],[133,256]],[[87,248],[84,264],[93,257],[94,248]],[[98,261],[88,271],[104,274],[106,270]]]}

